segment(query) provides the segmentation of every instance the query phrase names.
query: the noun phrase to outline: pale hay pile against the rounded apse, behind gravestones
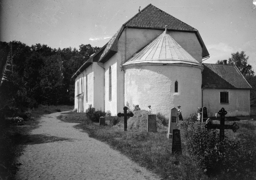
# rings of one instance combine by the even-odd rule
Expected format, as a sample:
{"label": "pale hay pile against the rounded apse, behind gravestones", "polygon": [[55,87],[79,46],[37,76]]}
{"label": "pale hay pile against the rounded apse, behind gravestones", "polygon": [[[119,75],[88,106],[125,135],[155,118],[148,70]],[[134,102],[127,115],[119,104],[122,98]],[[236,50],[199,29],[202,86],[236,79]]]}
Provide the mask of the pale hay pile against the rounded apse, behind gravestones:
{"label": "pale hay pile against the rounded apse, behind gravestones", "polygon": [[[133,117],[127,120],[127,128],[128,129],[147,129],[147,118],[148,114],[150,114],[146,110],[139,110],[133,112]],[[156,126],[157,129],[164,129],[164,125],[162,122],[156,118]]]}

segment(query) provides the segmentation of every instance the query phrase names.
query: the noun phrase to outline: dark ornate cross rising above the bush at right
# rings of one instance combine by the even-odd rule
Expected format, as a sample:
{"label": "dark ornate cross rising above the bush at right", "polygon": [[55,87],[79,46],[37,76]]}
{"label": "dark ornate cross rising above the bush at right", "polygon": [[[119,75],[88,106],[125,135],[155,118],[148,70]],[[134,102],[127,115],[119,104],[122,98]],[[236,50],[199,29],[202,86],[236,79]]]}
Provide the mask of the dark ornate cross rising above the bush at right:
{"label": "dark ornate cross rising above the bush at right", "polygon": [[233,132],[236,132],[237,129],[239,129],[239,126],[234,122],[232,125],[225,124],[225,115],[228,112],[225,111],[225,109],[222,107],[221,110],[218,112],[220,114],[220,124],[212,124],[211,122],[208,122],[208,124],[205,124],[205,128],[209,129],[220,129],[220,141],[224,140],[224,130],[225,129],[232,129]]}

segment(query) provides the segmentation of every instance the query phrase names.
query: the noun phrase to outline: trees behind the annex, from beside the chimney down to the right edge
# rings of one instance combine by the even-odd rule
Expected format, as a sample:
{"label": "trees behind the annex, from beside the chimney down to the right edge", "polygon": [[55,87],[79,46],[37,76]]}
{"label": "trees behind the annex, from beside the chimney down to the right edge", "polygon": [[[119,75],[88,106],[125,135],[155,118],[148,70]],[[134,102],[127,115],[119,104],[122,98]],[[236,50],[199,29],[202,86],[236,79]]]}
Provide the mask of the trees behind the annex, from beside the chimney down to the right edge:
{"label": "trees behind the annex, from beside the chimney down to the right edge", "polygon": [[[243,74],[244,78],[252,86],[250,91],[251,105],[256,104],[256,76],[252,70],[252,66],[248,64],[249,56],[244,51],[231,53],[231,58],[228,58],[227,64],[236,65],[238,70]],[[224,64],[223,60],[218,60],[216,64]]]}

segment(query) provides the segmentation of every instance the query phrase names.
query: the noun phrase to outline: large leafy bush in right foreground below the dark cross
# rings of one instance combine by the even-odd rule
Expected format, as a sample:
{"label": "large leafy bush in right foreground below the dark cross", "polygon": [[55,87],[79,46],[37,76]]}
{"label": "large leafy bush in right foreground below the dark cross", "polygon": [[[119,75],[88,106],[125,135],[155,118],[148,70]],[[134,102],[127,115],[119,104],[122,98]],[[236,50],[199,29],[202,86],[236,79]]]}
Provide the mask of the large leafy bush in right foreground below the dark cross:
{"label": "large leafy bush in right foreground below the dark cross", "polygon": [[199,127],[191,132],[188,139],[188,153],[208,175],[223,173],[235,179],[244,179],[255,171],[256,160],[253,142],[245,143],[245,139],[248,138],[220,142],[216,130]]}

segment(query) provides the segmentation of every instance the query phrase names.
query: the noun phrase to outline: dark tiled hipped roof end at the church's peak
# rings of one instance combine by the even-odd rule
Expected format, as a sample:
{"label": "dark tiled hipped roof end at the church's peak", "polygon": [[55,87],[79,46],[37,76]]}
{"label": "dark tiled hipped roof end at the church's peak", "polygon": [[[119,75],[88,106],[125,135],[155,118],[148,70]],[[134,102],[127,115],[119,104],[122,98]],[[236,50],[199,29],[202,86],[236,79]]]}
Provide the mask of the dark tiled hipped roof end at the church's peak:
{"label": "dark tiled hipped roof end at the church's peak", "polygon": [[174,18],[152,4],[147,5],[124,23],[124,26],[127,27],[140,28],[164,28],[165,25],[167,25],[168,30],[197,31],[194,27]]}

